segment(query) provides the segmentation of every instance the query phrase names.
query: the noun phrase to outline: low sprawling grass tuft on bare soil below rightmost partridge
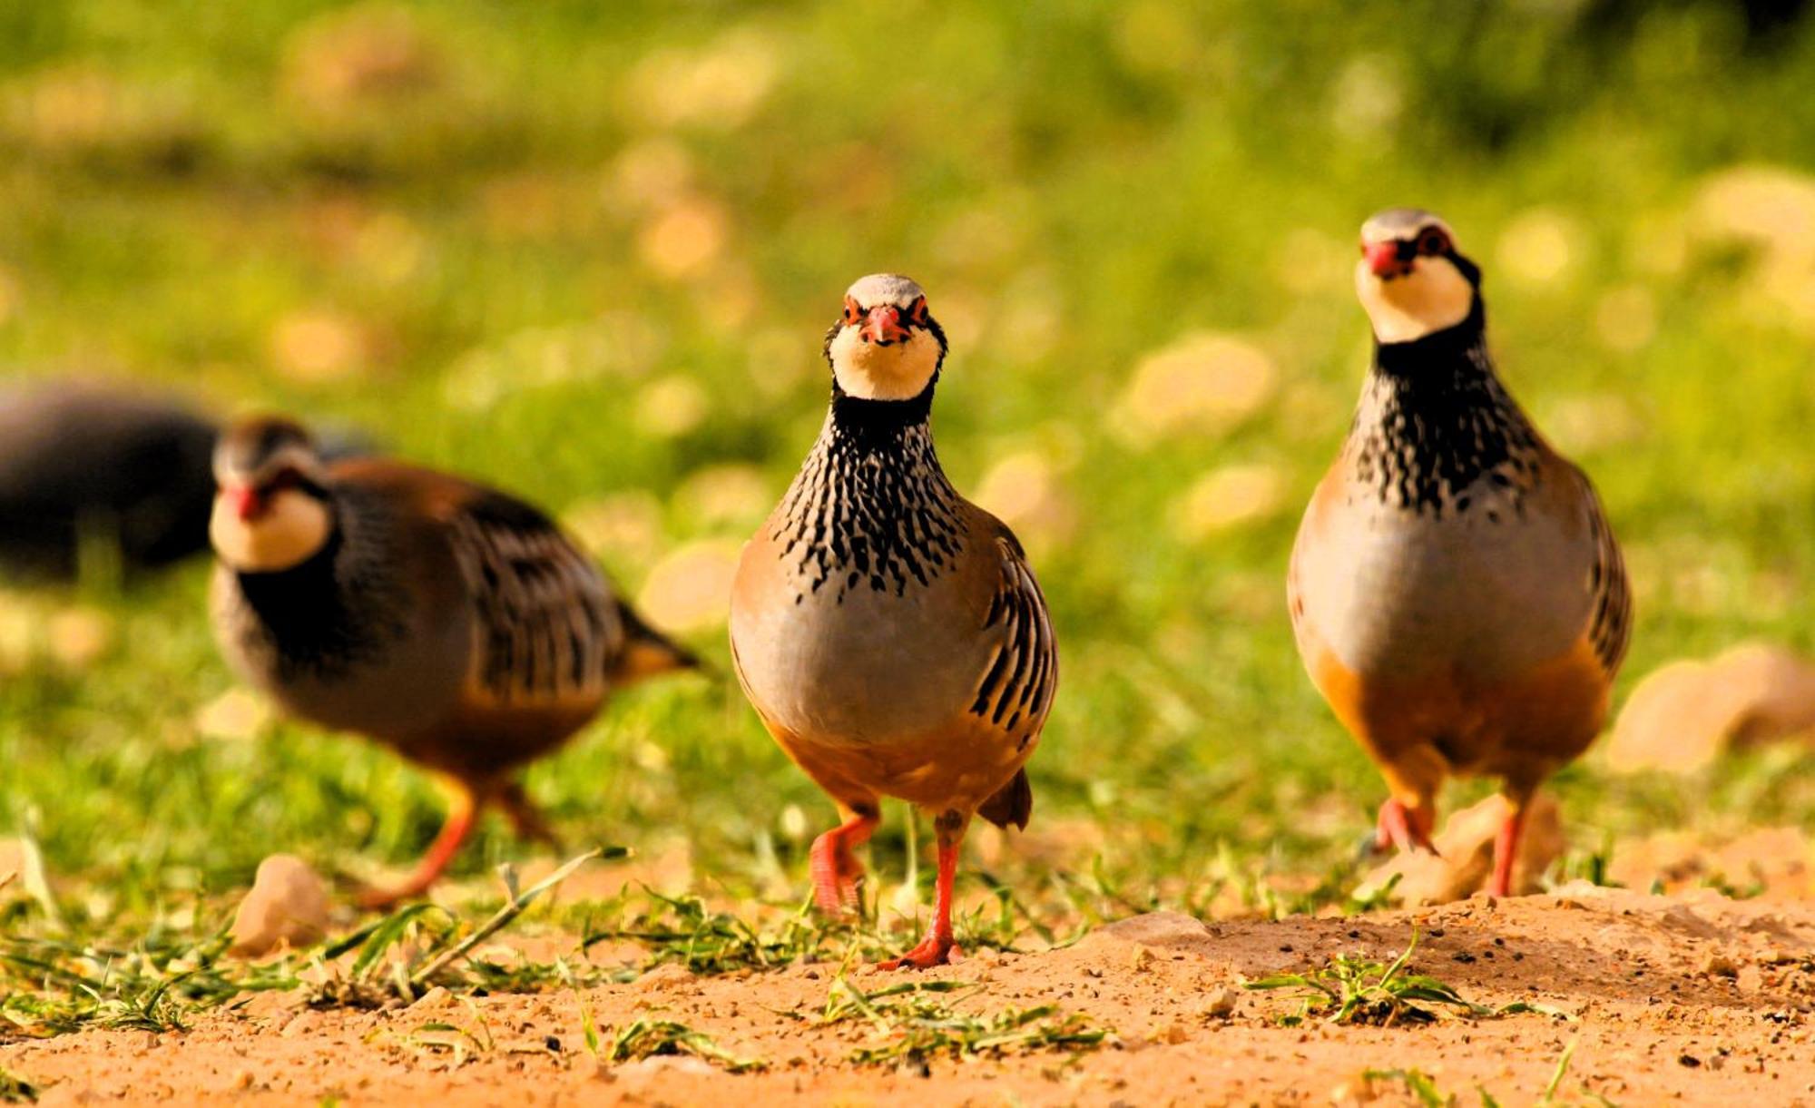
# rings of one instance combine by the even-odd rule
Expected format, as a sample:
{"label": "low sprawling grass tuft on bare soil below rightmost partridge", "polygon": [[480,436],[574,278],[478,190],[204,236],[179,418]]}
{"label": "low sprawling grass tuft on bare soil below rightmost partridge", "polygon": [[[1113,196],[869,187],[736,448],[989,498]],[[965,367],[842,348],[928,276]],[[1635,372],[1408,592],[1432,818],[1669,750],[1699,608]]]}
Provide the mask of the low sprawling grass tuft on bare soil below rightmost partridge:
{"label": "low sprawling grass tuft on bare soil below rightmost partridge", "polygon": [[1570,1019],[1568,1014],[1545,1004],[1514,1001],[1501,1008],[1477,1004],[1465,999],[1454,986],[1428,975],[1412,972],[1412,954],[1418,950],[1419,932],[1412,930],[1412,941],[1392,963],[1379,963],[1358,954],[1332,955],[1323,966],[1301,974],[1272,974],[1258,981],[1245,981],[1249,990],[1290,990],[1303,1004],[1296,1014],[1283,1015],[1280,1023],[1294,1026],[1307,1017],[1320,1015],[1327,1023],[1347,1024],[1363,1023],[1374,1026],[1394,1026],[1399,1023],[1430,1023],[1443,1010],[1476,1015],[1517,1015],[1534,1012],[1557,1019]]}

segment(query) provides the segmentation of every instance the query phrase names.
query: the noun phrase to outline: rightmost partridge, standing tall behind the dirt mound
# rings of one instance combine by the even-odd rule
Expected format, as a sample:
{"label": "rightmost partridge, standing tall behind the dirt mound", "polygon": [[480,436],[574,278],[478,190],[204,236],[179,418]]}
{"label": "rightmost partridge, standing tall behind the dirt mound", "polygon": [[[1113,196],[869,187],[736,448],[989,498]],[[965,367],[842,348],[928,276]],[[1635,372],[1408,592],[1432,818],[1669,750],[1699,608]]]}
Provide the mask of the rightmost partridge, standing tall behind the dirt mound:
{"label": "rightmost partridge, standing tall behind the dirt mound", "polygon": [[1392,799],[1378,845],[1430,850],[1452,774],[1505,781],[1490,890],[1526,803],[1594,741],[1632,623],[1594,487],[1494,372],[1481,271],[1448,225],[1392,209],[1356,269],[1374,363],[1287,585],[1298,650]]}

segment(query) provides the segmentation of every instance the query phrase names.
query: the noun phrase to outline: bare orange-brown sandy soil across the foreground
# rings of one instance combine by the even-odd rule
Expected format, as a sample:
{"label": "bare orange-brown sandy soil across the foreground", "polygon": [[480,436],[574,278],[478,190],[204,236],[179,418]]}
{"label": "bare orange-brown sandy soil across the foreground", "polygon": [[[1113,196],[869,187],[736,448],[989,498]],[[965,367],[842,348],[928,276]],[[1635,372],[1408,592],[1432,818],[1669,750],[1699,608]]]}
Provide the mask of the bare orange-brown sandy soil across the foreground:
{"label": "bare orange-brown sandy soil across the foreground", "polygon": [[[1555,1008],[1403,1026],[1283,1026],[1298,1003],[1240,984],[1359,952],[1390,961],[1421,932],[1414,966],[1470,1001]],[[915,981],[976,981],[942,994],[962,1012],[1058,1004],[1113,1037],[1084,1054],[858,1066],[864,1021],[815,1026],[835,966],[695,979],[664,966],[584,994],[430,994],[388,1012],[294,1010],[256,997],[189,1032],[89,1032],[0,1046],[0,1066],[44,1088],[44,1104],[1323,1104],[1412,1103],[1419,1070],[1445,1093],[1532,1103],[1815,1104],[1815,906],[1715,892],[1643,895],[1581,888],[1356,919],[1205,925],[1140,915],[1044,954],[986,952]],[[906,979],[853,970],[877,990]],[[1223,1014],[1236,988],[1234,1010]],[[1221,1003],[1218,997],[1221,995]],[[768,1068],[728,1073],[692,1057],[601,1064],[584,1012],[610,1039],[637,1019],[710,1035]],[[461,1028],[461,1032],[425,1030]],[[457,1043],[459,1050],[452,1044]]]}

